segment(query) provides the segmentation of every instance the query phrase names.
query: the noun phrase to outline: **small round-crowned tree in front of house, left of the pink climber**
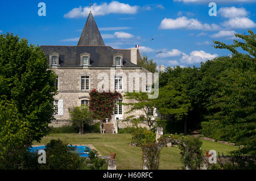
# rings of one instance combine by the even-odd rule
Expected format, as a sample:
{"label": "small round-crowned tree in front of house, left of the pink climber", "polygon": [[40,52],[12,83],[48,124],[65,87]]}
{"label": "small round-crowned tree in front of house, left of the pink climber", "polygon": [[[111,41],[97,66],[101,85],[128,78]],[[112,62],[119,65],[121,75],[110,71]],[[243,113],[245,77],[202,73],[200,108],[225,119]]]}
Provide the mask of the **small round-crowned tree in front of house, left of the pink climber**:
{"label": "small round-crowned tree in front of house, left of the pink climber", "polygon": [[74,107],[69,111],[71,122],[79,127],[79,134],[84,134],[84,125],[90,125],[93,120],[93,113],[88,106]]}

